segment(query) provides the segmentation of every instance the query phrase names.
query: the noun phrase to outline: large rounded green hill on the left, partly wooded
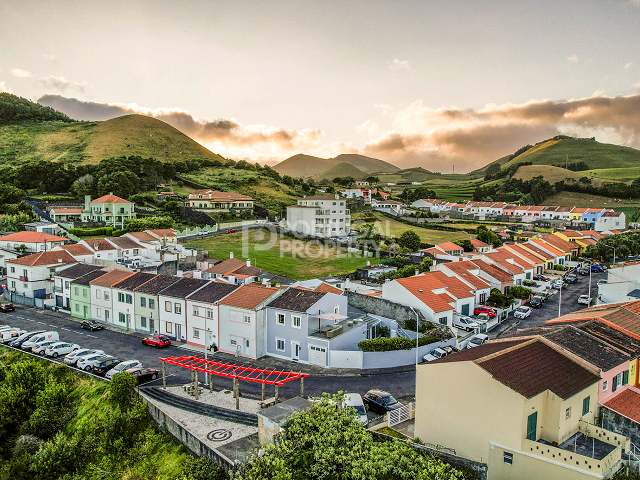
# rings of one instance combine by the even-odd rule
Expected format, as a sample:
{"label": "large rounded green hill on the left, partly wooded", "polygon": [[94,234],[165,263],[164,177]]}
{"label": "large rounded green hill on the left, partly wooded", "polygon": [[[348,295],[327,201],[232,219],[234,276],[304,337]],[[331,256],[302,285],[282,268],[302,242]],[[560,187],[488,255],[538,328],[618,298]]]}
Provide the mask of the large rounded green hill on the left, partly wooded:
{"label": "large rounded green hill on the left, partly wooded", "polygon": [[144,115],[75,122],[49,107],[0,94],[0,163],[99,163],[109,157],[153,157],[162,162],[224,158],[167,123]]}

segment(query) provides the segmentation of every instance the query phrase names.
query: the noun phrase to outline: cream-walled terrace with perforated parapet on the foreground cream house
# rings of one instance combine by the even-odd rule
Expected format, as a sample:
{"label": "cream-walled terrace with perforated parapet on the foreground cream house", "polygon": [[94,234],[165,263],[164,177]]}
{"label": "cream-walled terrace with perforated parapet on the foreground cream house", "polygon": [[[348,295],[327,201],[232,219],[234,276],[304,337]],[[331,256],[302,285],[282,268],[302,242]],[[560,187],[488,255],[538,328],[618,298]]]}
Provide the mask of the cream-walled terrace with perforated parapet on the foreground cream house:
{"label": "cream-walled terrace with perforated parapet on the foreground cream house", "polygon": [[607,478],[618,470],[622,462],[622,451],[629,447],[627,437],[583,420],[578,424],[578,431],[560,444],[553,445],[542,438],[537,441],[522,441],[524,452],[602,478]]}

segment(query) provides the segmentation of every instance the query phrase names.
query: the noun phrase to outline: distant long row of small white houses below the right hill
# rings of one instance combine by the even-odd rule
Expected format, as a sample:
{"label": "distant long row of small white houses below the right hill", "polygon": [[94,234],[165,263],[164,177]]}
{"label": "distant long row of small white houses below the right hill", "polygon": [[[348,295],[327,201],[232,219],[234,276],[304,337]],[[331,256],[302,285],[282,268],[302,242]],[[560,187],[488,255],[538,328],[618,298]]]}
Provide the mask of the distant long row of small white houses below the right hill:
{"label": "distant long row of small white houses below the right hill", "polygon": [[478,218],[489,216],[507,216],[522,222],[541,220],[560,220],[564,222],[585,222],[593,225],[599,232],[624,230],[626,217],[623,212],[607,208],[560,207],[555,205],[513,205],[505,202],[477,202],[451,204],[437,199],[420,199],[412,207],[430,210],[432,213],[457,212]]}

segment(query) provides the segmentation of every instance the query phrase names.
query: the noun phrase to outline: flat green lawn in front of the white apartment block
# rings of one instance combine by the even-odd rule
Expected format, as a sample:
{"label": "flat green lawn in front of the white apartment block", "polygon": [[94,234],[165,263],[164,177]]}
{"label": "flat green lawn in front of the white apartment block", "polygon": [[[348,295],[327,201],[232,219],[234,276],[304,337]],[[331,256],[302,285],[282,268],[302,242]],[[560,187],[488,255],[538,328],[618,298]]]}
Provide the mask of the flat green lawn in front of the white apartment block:
{"label": "flat green lawn in front of the white apartment block", "polygon": [[[246,249],[243,244],[246,244]],[[256,267],[294,280],[347,274],[367,262],[365,257],[347,254],[341,248],[278,236],[266,229],[249,230],[246,242],[243,233],[238,232],[195,240],[188,242],[187,246],[207,250],[210,258],[217,259],[229,258],[229,252],[233,252],[236,258],[248,257]],[[377,262],[376,258],[369,260]]]}

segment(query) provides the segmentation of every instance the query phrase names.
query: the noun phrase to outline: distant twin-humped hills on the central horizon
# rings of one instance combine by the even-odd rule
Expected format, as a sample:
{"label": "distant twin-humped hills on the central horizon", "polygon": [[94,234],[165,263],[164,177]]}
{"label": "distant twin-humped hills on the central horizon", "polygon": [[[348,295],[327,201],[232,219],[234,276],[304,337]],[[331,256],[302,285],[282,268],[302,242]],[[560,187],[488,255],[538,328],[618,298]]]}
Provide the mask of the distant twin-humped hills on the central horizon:
{"label": "distant twin-humped hills on the central horizon", "polygon": [[[350,174],[335,175],[336,171],[347,171],[344,166],[334,170],[340,164],[349,164],[360,171],[361,174],[358,178],[376,173],[391,173],[400,170],[395,165],[385,162],[384,160],[355,153],[343,153],[334,158],[321,158],[299,153],[278,163],[273,168],[282,175],[300,178],[331,179],[337,176],[355,177],[355,175]],[[358,172],[356,172],[356,170],[351,171],[357,174]]]}

